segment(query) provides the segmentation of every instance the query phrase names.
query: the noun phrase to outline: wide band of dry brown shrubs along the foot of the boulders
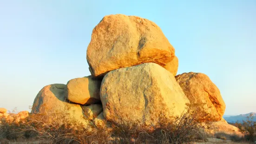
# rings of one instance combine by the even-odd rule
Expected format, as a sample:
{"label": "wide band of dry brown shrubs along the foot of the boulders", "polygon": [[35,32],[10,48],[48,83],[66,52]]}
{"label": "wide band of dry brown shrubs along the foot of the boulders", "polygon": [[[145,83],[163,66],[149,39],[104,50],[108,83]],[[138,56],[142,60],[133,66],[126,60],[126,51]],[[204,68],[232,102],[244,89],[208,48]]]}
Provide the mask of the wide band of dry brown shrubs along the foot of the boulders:
{"label": "wide band of dry brown shrubs along the foot of the boulders", "polygon": [[186,111],[173,121],[162,119],[152,131],[137,124],[117,125],[105,121],[96,127],[93,122],[84,127],[69,113],[55,111],[52,114],[31,114],[19,124],[0,125],[2,139],[38,139],[50,144],[181,144],[205,141],[204,126],[198,120],[202,113],[197,106],[188,105]]}

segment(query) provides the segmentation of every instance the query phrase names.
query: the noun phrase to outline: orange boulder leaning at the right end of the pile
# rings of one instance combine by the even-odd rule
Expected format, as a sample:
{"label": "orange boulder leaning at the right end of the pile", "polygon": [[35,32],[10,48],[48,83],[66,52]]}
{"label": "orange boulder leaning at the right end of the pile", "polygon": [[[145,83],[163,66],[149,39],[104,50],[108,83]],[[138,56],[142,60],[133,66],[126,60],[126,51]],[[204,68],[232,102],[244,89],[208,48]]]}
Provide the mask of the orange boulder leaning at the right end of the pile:
{"label": "orange boulder leaning at the right end of the pile", "polygon": [[183,73],[176,76],[178,84],[191,104],[199,106],[207,116],[202,121],[221,120],[226,105],[217,86],[203,73]]}

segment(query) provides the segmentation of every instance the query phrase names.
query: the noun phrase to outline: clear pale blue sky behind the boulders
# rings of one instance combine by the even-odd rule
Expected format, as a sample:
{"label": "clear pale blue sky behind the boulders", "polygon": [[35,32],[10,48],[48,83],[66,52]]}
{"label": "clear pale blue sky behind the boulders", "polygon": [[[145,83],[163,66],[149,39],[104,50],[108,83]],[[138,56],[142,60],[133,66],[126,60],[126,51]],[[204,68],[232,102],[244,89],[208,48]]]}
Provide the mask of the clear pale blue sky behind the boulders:
{"label": "clear pale blue sky behind the boulders", "polygon": [[256,112],[256,0],[0,0],[0,107],[28,111],[45,85],[90,75],[92,29],[109,14],[155,22],[177,73],[208,75],[225,115]]}

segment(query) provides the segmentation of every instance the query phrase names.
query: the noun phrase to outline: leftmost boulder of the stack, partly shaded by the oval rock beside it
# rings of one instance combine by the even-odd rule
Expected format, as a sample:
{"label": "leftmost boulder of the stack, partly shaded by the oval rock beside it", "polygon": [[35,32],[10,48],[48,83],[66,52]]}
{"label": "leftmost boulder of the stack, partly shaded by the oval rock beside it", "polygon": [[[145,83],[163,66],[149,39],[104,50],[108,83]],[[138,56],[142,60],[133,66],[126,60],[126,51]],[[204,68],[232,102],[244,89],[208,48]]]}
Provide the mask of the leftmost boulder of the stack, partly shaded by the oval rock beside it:
{"label": "leftmost boulder of the stack, partly shaded by the oval rock beside it", "polygon": [[66,99],[67,88],[64,84],[46,85],[34,99],[31,113],[47,115],[67,115],[70,120],[87,124],[84,119],[82,105],[69,102]]}

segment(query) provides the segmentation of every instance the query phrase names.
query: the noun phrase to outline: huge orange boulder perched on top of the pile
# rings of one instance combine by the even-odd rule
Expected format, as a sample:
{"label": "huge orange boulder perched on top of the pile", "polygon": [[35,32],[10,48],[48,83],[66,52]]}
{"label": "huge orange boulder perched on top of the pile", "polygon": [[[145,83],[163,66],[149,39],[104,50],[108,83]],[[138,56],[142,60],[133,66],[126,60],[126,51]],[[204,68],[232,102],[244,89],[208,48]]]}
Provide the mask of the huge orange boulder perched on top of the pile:
{"label": "huge orange boulder perched on top of the pile", "polygon": [[93,76],[141,63],[164,66],[175,49],[154,22],[122,14],[105,16],[92,31],[87,62]]}

